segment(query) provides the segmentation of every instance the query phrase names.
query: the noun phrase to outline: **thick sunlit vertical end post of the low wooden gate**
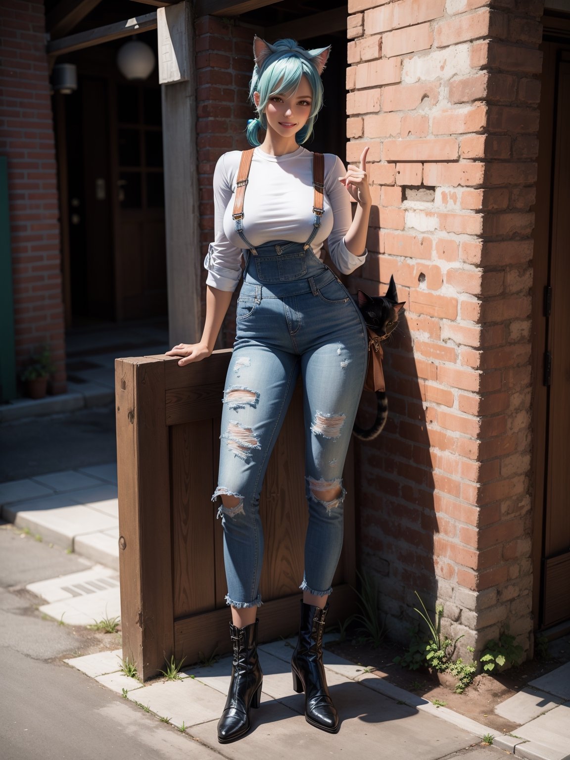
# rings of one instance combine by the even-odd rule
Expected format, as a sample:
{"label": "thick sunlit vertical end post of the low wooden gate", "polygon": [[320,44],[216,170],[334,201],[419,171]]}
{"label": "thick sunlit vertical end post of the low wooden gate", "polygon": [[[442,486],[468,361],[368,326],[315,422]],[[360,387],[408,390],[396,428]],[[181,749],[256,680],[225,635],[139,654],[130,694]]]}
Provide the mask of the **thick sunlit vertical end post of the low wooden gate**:
{"label": "thick sunlit vertical end post of the low wooden gate", "polygon": [[153,359],[117,359],[116,369],[123,656],[146,680],[174,648],[164,369]]}

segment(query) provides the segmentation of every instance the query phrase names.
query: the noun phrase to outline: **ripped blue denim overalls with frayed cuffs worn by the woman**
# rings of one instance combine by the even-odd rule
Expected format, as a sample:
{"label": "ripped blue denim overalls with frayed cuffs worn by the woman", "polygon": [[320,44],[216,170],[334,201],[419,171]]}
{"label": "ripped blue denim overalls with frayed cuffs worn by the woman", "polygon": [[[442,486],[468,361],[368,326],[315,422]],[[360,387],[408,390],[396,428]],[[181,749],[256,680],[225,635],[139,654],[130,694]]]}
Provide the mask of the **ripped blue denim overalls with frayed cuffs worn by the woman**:
{"label": "ripped blue denim overalls with frayed cuffs worn by the woman", "polygon": [[[275,262],[274,271],[273,262],[263,258],[264,253],[266,258],[267,252],[274,253],[277,242],[258,246],[255,267],[249,256],[223,394],[220,470],[212,500],[221,494],[239,499],[236,507],[218,510],[226,603],[236,608],[261,605],[264,540],[259,494],[299,372],[309,506],[305,572],[299,588],[319,596],[331,593],[343,542],[342,471],[368,359],[359,309],[310,248],[302,252],[304,263],[295,263],[297,271],[303,270],[299,277],[283,280],[281,275],[281,281],[264,284],[279,277],[281,260]],[[289,245],[295,246],[293,252],[302,251],[302,244]],[[295,271],[286,261],[283,264],[281,272]],[[319,498],[320,492],[331,489],[338,492],[337,498]]]}

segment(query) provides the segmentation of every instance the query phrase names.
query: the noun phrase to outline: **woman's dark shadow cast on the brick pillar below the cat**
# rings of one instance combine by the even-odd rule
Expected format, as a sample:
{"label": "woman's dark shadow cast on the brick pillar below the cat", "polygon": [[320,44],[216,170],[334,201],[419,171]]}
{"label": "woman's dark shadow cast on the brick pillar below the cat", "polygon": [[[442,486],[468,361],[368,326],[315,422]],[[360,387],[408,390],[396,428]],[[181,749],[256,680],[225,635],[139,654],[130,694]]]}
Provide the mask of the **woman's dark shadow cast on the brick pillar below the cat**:
{"label": "woman's dark shadow cast on the brick pillar below the cat", "polygon": [[[403,290],[398,288],[401,300]],[[405,312],[384,344],[384,371],[385,428],[370,442],[356,441],[357,545],[362,569],[379,576],[388,637],[404,636],[407,641],[410,625],[420,621],[413,612],[419,604],[414,591],[433,613],[442,597],[438,580],[449,578],[452,568],[440,554],[435,556],[434,536],[445,533],[448,521],[435,496],[438,454],[429,446],[422,393],[426,380],[416,373]],[[356,422],[368,427],[375,408],[374,394],[364,391]]]}

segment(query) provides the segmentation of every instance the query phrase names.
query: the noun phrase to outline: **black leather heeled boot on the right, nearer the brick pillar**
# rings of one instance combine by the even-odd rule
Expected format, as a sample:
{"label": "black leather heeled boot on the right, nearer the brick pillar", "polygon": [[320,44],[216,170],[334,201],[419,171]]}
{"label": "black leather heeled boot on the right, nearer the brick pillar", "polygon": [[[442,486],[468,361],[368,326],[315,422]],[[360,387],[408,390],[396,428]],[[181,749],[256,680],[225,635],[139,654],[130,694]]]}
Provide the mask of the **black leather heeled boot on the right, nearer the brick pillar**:
{"label": "black leather heeled boot on the right, nearer the brick pillar", "polygon": [[327,612],[328,603],[321,610],[301,600],[299,641],[291,657],[291,670],[293,689],[298,694],[305,692],[307,723],[328,733],[337,733],[338,714],[328,693],[325,667],[322,663],[322,635]]}

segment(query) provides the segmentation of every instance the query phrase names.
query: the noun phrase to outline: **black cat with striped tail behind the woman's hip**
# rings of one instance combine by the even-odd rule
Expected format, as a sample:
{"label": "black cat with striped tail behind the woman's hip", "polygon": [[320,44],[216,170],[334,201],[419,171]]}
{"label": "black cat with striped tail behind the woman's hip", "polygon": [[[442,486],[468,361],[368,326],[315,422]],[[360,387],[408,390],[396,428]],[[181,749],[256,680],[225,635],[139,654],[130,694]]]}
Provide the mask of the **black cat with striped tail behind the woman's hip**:
{"label": "black cat with striped tail behind the woman's hip", "polygon": [[[379,337],[385,339],[397,328],[397,320],[400,316],[405,301],[398,302],[396,283],[394,277],[390,277],[390,284],[385,296],[367,296],[362,290],[358,291],[358,306],[363,315],[366,325]],[[361,441],[371,441],[382,432],[388,419],[388,399],[385,391],[375,391],[376,420],[371,428],[364,430],[356,425],[353,426],[353,434]]]}

